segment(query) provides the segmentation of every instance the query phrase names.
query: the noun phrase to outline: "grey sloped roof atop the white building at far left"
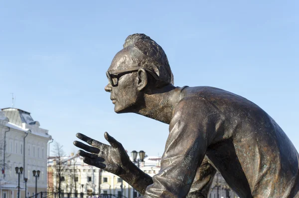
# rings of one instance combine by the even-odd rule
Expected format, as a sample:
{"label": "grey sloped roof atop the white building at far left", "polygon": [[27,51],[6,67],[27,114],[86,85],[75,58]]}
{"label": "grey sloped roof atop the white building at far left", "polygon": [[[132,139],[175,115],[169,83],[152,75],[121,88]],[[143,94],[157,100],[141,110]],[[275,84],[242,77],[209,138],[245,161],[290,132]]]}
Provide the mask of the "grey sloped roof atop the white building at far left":
{"label": "grey sloped roof atop the white building at far left", "polygon": [[4,112],[4,116],[9,119],[10,123],[18,126],[22,126],[22,123],[35,124],[29,112],[15,108],[4,108],[1,110]]}

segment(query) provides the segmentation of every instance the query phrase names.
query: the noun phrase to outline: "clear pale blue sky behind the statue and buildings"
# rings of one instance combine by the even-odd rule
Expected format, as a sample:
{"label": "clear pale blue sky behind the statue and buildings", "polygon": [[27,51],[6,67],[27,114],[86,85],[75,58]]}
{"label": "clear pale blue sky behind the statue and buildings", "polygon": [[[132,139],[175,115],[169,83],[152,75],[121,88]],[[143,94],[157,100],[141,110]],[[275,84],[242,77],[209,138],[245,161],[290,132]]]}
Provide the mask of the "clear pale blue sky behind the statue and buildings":
{"label": "clear pale blue sky behind the statue and buildings", "polygon": [[162,155],[168,125],[116,114],[106,70],[129,34],[165,50],[176,86],[213,86],[263,108],[299,150],[298,0],[0,1],[0,108],[31,112],[66,153],[75,134]]}

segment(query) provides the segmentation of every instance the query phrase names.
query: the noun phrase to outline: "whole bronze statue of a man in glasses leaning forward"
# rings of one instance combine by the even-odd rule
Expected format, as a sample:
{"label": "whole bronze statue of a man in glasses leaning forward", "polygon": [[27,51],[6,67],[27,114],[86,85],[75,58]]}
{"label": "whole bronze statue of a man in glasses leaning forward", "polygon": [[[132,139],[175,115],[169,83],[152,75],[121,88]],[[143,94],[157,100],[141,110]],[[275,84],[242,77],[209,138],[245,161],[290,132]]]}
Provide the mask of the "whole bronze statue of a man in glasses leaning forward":
{"label": "whole bronze statue of a man in glasses leaning forward", "polygon": [[[192,74],[193,75],[193,74]],[[207,198],[218,170],[241,198],[299,198],[299,155],[278,124],[253,102],[214,87],[175,87],[163,49],[133,34],[108,69],[116,113],[169,124],[161,170],[152,178],[111,146],[83,134],[84,162],[128,182],[145,198]]]}

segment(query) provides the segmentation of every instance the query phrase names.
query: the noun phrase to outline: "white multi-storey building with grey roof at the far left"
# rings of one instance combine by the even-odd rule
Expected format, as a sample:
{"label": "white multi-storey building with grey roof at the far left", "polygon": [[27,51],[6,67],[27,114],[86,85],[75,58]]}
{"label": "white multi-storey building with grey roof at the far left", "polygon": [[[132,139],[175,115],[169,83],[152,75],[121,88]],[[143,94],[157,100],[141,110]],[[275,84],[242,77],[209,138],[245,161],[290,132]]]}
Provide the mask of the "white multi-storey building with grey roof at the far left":
{"label": "white multi-storey building with grey roof at the far left", "polygon": [[[48,130],[39,127],[30,113],[5,108],[0,111],[0,198],[17,198],[18,175],[15,167],[22,167],[20,175],[20,197],[25,197],[27,178],[27,195],[35,193],[35,177],[32,171],[40,171],[37,178],[37,192],[47,189],[47,148],[51,136]],[[5,146],[4,146],[5,145]]]}

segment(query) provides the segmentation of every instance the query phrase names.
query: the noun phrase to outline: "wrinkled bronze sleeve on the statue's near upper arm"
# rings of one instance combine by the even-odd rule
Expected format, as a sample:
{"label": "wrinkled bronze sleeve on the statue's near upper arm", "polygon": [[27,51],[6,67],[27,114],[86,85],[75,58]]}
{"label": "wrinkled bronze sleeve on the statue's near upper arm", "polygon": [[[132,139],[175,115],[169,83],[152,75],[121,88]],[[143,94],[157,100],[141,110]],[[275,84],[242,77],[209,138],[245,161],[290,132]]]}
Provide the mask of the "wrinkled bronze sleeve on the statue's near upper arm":
{"label": "wrinkled bronze sleeve on the statue's near upper arm", "polygon": [[148,186],[144,197],[187,196],[208,145],[207,130],[212,123],[205,115],[202,109],[194,108],[192,101],[179,102],[169,124],[161,170],[152,177],[153,184]]}

